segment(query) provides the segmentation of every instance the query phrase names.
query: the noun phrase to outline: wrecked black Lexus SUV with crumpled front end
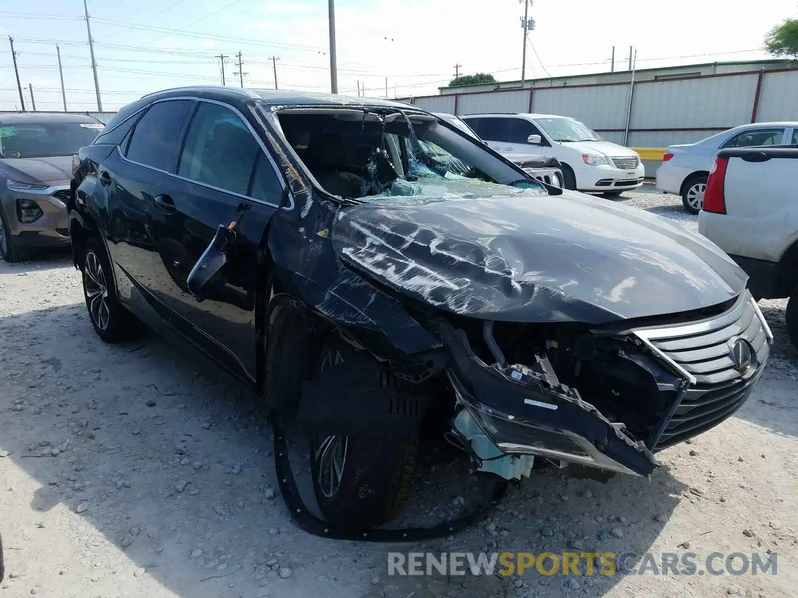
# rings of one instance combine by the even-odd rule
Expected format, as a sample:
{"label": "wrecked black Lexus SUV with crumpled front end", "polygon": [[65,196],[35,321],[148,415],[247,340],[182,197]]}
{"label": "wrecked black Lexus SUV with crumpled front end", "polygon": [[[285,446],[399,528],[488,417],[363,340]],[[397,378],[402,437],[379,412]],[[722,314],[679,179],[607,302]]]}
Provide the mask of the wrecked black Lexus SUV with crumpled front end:
{"label": "wrecked black Lexus SUV with crumpled front end", "polygon": [[647,476],[741,407],[772,344],[705,238],[410,104],[172,89],[73,171],[97,334],[150,323],[256,388],[294,517],[283,431],[306,438],[324,532],[397,516],[432,417],[498,479],[535,458]]}

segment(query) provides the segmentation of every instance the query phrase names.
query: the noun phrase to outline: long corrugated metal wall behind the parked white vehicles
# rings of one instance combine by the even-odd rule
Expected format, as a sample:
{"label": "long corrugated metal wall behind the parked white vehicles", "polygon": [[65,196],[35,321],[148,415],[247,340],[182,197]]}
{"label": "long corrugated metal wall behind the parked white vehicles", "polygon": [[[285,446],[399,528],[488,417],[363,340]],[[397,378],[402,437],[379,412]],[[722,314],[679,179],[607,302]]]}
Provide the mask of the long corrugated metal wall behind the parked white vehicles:
{"label": "long corrugated metal wall behind the parked white vehicles", "polygon": [[[556,85],[558,81],[565,85]],[[496,85],[500,89],[494,89]],[[519,85],[520,81],[509,81],[442,88],[437,96],[405,101],[432,112],[460,115],[571,116],[606,140],[630,148],[654,148],[659,155],[668,145],[693,143],[739,124],[798,120],[798,69],[790,68],[788,61],[643,69],[635,72],[634,84],[625,71],[535,79],[523,89]],[[646,174],[653,175],[657,164],[647,165]]]}

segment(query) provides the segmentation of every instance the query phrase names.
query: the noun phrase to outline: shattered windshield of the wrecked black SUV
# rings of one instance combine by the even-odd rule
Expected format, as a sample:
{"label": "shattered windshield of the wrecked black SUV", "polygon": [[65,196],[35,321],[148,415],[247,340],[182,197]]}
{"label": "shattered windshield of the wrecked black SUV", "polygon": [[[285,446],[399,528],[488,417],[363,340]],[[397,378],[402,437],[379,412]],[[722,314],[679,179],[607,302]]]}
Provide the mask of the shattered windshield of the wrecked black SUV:
{"label": "shattered windshield of the wrecked black SUV", "polygon": [[536,179],[429,115],[315,109],[279,114],[286,140],[331,195],[377,200],[548,195]]}

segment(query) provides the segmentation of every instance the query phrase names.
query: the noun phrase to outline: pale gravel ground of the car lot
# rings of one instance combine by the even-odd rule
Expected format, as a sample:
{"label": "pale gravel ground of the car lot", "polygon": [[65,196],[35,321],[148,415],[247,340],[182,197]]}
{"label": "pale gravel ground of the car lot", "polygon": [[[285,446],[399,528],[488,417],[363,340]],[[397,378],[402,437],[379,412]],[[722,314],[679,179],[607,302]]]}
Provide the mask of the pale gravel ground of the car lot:
{"label": "pale gravel ground of the car lot", "polygon": [[[618,201],[696,226],[672,195],[644,187]],[[535,471],[489,521],[389,546],[294,528],[275,496],[257,399],[155,334],[103,344],[65,255],[0,262],[0,598],[796,596],[798,356],[786,340],[785,302],[760,305],[776,344],[757,390],[721,426],[660,454],[650,480]],[[434,470],[422,468],[419,485]],[[444,509],[448,490],[440,490]],[[693,552],[699,569],[709,553],[771,551],[778,568],[775,576],[399,577],[387,575],[389,550]]]}

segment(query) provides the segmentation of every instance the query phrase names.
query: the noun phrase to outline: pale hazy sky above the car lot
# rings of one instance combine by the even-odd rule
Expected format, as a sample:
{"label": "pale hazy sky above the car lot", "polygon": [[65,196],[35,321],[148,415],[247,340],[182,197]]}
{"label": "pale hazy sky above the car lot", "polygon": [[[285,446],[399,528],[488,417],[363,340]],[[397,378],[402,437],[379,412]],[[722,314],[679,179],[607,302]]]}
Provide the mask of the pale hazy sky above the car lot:
{"label": "pale hazy sky above the car lot", "polygon": [[[183,85],[330,91],[326,0],[88,0],[105,111]],[[335,0],[338,91],[389,97],[437,94],[461,74],[521,74],[523,0]],[[527,78],[768,57],[765,33],[798,18],[796,0],[533,0]],[[0,110],[97,110],[82,0],[0,2]]]}

